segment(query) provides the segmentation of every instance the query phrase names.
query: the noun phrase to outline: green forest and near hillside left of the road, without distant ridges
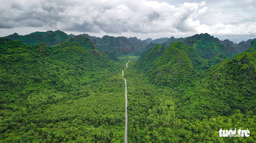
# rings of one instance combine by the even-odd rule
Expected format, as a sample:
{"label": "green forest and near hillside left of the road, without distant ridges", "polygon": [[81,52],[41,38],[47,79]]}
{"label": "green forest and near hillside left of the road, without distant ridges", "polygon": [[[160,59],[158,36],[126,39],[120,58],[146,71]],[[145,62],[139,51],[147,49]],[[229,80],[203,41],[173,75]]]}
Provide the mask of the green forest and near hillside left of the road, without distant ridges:
{"label": "green forest and near hillside left of the road, without distant ridges", "polygon": [[0,45],[0,142],[124,140],[119,65],[77,42]]}

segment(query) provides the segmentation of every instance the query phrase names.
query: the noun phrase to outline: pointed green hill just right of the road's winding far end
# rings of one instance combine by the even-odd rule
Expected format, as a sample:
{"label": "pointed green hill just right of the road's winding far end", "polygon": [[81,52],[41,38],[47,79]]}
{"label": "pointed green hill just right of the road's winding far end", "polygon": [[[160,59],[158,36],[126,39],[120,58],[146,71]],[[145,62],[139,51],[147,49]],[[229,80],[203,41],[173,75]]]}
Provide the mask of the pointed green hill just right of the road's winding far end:
{"label": "pointed green hill just right of the road's winding far end", "polygon": [[[180,53],[180,55],[178,55],[178,53]],[[182,65],[178,66],[176,63]],[[186,82],[183,68],[188,68],[193,72],[195,72],[194,70],[208,69],[206,60],[203,60],[193,47],[184,45],[182,42],[174,42],[166,50],[164,49],[164,45],[158,44],[144,57],[139,58],[136,65],[147,73],[148,78],[153,81],[153,83],[172,87],[177,85],[177,82],[181,81],[181,79],[176,79],[176,77],[181,78],[180,76],[184,76],[184,83]],[[179,70],[182,72],[177,74]],[[176,73],[177,75],[170,76],[170,72]],[[187,76],[190,78],[193,77],[191,75]],[[174,81],[175,84],[170,84]]]}

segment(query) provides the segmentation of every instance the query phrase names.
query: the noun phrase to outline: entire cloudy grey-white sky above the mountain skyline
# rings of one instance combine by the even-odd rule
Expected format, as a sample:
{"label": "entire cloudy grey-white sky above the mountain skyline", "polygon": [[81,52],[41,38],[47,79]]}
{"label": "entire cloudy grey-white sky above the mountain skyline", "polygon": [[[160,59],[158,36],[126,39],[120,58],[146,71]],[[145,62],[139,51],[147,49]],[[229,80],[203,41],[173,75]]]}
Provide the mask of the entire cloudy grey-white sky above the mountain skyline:
{"label": "entire cloudy grey-white sky above the mountain skyline", "polygon": [[0,0],[0,37],[61,30],[102,37],[256,38],[256,0]]}

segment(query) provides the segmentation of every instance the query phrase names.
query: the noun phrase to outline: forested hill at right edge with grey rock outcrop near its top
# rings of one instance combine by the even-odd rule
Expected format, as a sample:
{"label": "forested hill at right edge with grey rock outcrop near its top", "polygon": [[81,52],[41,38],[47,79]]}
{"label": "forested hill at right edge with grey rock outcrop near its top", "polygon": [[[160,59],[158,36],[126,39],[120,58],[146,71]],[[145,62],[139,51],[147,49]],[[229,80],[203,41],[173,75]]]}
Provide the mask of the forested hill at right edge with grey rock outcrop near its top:
{"label": "forested hill at right edge with grey rock outcrop near its top", "polygon": [[243,52],[198,73],[191,92],[181,97],[184,106],[179,111],[183,118],[228,116],[236,109],[245,112],[254,108],[255,54]]}

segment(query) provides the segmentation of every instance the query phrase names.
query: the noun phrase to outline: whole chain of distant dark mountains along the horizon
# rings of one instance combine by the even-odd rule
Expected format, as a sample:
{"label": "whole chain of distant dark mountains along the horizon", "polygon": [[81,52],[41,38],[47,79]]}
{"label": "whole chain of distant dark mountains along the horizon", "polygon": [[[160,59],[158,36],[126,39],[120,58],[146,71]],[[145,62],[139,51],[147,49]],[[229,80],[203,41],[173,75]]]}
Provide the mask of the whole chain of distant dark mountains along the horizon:
{"label": "whole chain of distant dark mountains along the horizon", "polygon": [[[159,38],[152,40],[151,38],[147,38],[146,40],[141,40],[136,37],[113,37],[113,36],[103,36],[102,38],[90,36],[88,34],[80,34],[78,36],[88,37],[94,42],[96,48],[98,50],[103,51],[110,59],[118,60],[118,56],[121,55],[129,55],[136,54],[144,56],[147,54],[146,51],[152,49],[156,44],[164,45],[164,47],[169,47],[174,42],[183,42],[185,45],[194,47],[197,54],[203,59],[212,60],[218,54],[225,54],[228,58],[232,58],[237,53],[243,52],[248,49],[251,45],[252,41],[255,39],[249,39],[246,42],[242,41],[238,44],[234,44],[234,42],[226,39],[219,40],[213,36],[210,36],[208,33],[196,34],[191,37],[185,38]],[[28,35],[18,35],[14,33],[12,35],[6,36],[12,40],[21,40],[23,43],[27,45],[36,45],[39,43],[45,43],[47,46],[54,46],[56,44],[60,44],[65,42],[69,38],[76,37],[73,34],[67,35],[66,33],[56,30],[56,31],[47,31],[47,32],[33,32]],[[75,39],[70,39],[71,41],[76,41],[82,45],[86,46],[87,40],[83,44],[83,41],[80,38],[76,37]],[[80,40],[80,41],[79,41]],[[151,43],[152,42],[152,43]],[[153,44],[154,43],[154,44]],[[150,45],[148,45],[150,44]],[[95,47],[88,47],[95,48]],[[141,53],[142,52],[142,53]],[[149,51],[148,51],[149,52]],[[217,64],[217,61],[223,60],[223,58],[215,57],[209,65]],[[225,57],[222,55],[221,57]]]}

